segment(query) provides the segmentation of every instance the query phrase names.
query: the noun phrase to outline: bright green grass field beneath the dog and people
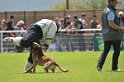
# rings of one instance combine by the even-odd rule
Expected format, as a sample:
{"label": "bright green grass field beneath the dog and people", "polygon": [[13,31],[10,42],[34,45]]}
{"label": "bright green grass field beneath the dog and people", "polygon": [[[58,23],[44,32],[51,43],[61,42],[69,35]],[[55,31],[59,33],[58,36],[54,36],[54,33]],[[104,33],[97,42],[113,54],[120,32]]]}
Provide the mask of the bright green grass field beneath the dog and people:
{"label": "bright green grass field beneath the dog and people", "polygon": [[21,74],[28,53],[0,54],[0,82],[123,82],[124,52],[119,58],[121,72],[111,71],[112,52],[108,54],[102,72],[96,70],[101,52],[46,52],[45,55],[56,60],[69,72],[45,73],[43,67],[37,66],[36,73]]}

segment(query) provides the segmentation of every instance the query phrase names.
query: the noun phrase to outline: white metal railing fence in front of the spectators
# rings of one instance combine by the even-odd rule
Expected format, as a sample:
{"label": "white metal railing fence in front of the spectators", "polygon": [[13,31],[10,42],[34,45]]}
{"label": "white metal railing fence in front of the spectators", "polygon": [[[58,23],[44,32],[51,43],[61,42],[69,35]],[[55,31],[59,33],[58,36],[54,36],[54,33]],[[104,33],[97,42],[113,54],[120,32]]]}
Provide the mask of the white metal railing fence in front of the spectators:
{"label": "white metal railing fence in front of the spectators", "polygon": [[[65,30],[59,31],[54,37],[49,46],[48,51],[93,51],[94,36],[100,34],[101,29],[81,29],[73,32]],[[26,31],[0,31],[0,52],[25,52],[29,48],[17,47],[13,43],[3,42],[2,39],[6,36],[16,37],[25,36]],[[41,41],[41,46],[44,50],[44,40]]]}

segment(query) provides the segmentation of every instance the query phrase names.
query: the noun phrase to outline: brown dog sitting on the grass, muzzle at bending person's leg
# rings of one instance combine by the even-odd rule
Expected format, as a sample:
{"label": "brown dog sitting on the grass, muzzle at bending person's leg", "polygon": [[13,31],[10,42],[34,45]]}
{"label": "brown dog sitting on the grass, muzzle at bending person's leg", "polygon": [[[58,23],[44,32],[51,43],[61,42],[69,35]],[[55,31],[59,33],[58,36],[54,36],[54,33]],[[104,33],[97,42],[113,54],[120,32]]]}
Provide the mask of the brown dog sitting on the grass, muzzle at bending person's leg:
{"label": "brown dog sitting on the grass, muzzle at bending person's leg", "polygon": [[58,67],[62,72],[69,71],[68,69],[60,67],[52,58],[45,56],[40,44],[36,42],[33,42],[32,59],[33,67],[29,70],[33,69],[33,73],[36,71],[36,65],[43,66],[46,73],[48,73],[49,69],[54,73],[56,67]]}

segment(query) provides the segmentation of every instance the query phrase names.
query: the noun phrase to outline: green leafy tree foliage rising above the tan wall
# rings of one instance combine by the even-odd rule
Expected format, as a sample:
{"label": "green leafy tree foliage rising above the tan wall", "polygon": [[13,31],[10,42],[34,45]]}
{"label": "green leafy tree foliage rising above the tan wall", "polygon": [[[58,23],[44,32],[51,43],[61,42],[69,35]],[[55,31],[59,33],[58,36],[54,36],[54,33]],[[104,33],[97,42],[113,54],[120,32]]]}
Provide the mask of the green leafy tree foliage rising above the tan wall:
{"label": "green leafy tree foliage rising above the tan wall", "polygon": [[[70,10],[80,10],[80,9],[104,9],[107,5],[108,0],[69,0]],[[64,2],[55,4],[51,10],[66,10],[66,0]]]}

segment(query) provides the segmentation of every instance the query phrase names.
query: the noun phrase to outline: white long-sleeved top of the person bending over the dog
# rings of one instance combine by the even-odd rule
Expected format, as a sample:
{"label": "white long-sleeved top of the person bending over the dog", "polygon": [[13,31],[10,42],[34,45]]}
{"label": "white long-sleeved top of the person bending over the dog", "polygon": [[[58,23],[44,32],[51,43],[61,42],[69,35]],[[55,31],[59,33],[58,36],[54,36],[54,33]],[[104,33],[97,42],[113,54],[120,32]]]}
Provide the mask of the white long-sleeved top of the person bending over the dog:
{"label": "white long-sleeved top of the person bending over the dog", "polygon": [[50,45],[57,32],[56,23],[49,19],[42,19],[36,22],[34,25],[39,25],[41,27],[43,32],[43,38],[41,39],[45,39],[45,44]]}

